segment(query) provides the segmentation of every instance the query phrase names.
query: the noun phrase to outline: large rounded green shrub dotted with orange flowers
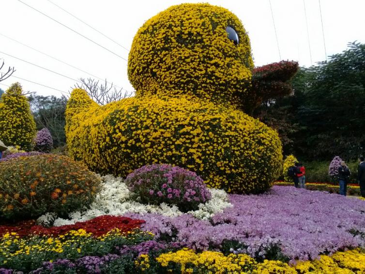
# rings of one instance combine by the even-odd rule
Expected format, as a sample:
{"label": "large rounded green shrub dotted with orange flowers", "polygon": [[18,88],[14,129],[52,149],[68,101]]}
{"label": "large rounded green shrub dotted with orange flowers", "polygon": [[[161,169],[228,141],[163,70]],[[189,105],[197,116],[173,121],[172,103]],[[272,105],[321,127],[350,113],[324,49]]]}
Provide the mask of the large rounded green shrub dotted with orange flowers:
{"label": "large rounded green shrub dotted with orange flowers", "polygon": [[66,216],[88,206],[101,179],[65,156],[44,154],[0,162],[0,218]]}

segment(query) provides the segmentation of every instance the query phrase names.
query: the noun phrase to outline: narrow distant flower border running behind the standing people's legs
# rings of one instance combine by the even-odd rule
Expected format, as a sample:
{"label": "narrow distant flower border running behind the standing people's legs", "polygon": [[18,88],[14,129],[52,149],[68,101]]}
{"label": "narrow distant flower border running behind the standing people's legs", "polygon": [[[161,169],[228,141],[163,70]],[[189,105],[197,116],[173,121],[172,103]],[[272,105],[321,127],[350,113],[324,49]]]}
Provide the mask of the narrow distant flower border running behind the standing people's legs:
{"label": "narrow distant flower border running behind the standing people's legs", "polygon": [[[277,181],[274,183],[277,186],[294,186],[294,183]],[[327,191],[329,193],[340,193],[339,185],[334,185],[331,183],[321,183],[321,182],[310,182],[305,183],[305,188],[307,190],[318,190],[318,191]],[[347,194],[354,196],[361,196],[360,187],[358,184],[348,184],[347,185]]]}

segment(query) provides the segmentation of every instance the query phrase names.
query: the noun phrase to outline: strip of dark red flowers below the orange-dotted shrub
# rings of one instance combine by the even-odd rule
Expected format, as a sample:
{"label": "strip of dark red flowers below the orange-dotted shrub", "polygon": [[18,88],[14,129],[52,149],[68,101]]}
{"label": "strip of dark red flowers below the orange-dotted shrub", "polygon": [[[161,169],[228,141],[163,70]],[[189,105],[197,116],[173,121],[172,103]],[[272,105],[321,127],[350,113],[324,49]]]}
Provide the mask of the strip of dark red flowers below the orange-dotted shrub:
{"label": "strip of dark red flowers below the orange-dotted shrub", "polygon": [[28,222],[29,223],[18,223],[16,226],[0,226],[0,235],[7,232],[16,232],[21,237],[35,234],[57,236],[65,234],[70,230],[85,229],[86,232],[92,233],[93,236],[98,237],[114,228],[118,228],[122,233],[126,233],[139,228],[145,221],[121,216],[103,215],[89,221],[77,222],[74,225],[53,226],[50,228],[34,226],[34,221]]}

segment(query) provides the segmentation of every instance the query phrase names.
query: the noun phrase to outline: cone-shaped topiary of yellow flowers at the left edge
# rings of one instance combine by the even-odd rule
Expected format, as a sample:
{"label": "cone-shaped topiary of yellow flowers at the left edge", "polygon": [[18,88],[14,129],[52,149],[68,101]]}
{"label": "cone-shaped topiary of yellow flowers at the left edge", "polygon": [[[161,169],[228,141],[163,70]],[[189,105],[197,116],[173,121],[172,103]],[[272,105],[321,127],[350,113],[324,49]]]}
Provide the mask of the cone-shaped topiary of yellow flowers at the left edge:
{"label": "cone-shaped topiary of yellow flowers at the left edge", "polygon": [[12,84],[0,99],[0,140],[30,151],[35,137],[35,122],[27,97],[19,83]]}

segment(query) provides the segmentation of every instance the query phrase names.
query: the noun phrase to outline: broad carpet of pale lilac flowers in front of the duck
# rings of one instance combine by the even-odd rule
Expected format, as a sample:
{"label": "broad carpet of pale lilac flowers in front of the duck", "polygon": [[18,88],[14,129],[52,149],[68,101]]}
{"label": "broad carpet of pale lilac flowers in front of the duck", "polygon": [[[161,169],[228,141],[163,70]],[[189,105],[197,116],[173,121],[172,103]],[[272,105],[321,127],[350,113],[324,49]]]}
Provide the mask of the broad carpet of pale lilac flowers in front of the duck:
{"label": "broad carpet of pale lilac flowers in front of the duck", "polygon": [[[233,208],[211,222],[184,214],[128,214],[146,221],[143,229],[197,250],[221,248],[225,240],[244,243],[245,251],[264,256],[279,245],[289,259],[313,259],[347,247],[365,246],[365,201],[337,194],[274,186],[267,194],[231,194]],[[363,234],[362,234],[363,233]]]}

